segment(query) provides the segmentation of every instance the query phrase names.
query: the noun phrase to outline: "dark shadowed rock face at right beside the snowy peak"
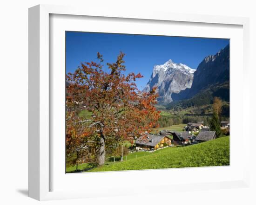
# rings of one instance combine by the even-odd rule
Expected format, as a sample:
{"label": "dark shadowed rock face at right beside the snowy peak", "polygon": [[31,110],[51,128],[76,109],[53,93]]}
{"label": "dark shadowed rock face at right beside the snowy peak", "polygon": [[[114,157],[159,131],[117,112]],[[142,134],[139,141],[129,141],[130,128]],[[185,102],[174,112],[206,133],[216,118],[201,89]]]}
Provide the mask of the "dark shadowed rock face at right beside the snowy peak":
{"label": "dark shadowed rock face at right beside the snowy peak", "polygon": [[191,88],[172,94],[173,100],[188,99],[209,86],[229,82],[229,45],[198,65]]}

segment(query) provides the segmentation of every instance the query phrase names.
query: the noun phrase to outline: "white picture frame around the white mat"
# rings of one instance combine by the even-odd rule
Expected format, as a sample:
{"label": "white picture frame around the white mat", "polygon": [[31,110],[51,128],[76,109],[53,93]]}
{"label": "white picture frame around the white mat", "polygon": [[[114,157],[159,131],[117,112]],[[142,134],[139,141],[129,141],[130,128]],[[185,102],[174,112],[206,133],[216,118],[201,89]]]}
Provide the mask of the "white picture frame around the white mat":
{"label": "white picture frame around the white mat", "polygon": [[[29,197],[37,200],[52,199],[74,199],[97,197],[98,193],[81,189],[73,191],[52,191],[51,190],[51,147],[50,140],[50,112],[52,107],[51,86],[50,86],[50,20],[51,14],[64,14],[75,16],[90,16],[103,18],[125,18],[144,19],[157,21],[175,21],[188,23],[204,23],[218,25],[243,26],[243,126],[246,126],[244,119],[249,119],[249,19],[241,17],[222,17],[194,14],[175,14],[160,12],[135,12],[135,11],[105,11],[98,8],[90,8],[86,12],[82,8],[70,6],[38,5],[29,8]],[[232,88],[231,88],[232,89]],[[249,138],[249,129],[244,131],[243,143]],[[244,156],[249,156],[249,150],[244,148]],[[168,187],[170,190],[205,190],[232,187],[249,186],[249,157],[245,158],[243,165],[243,179],[200,182],[193,184],[175,184]],[[145,172],[145,171],[144,171]],[[147,171],[146,171],[147,172]],[[168,170],[165,170],[168,172]],[[120,173],[120,172],[119,172]],[[111,176],[119,173],[112,172]],[[94,173],[92,173],[94,174]],[[78,175],[78,174],[77,174]],[[119,174],[120,175],[120,174]],[[80,174],[82,177],[82,175]],[[98,175],[99,176],[99,175]],[[111,185],[110,185],[111,186]],[[114,186],[114,185],[112,185]],[[165,190],[166,185],[157,186],[159,192]],[[127,189],[120,191],[119,187],[111,187],[116,192],[109,193],[108,190],[101,193],[101,196],[118,196],[134,194],[134,190]],[[148,192],[152,186],[147,186],[141,193]]]}

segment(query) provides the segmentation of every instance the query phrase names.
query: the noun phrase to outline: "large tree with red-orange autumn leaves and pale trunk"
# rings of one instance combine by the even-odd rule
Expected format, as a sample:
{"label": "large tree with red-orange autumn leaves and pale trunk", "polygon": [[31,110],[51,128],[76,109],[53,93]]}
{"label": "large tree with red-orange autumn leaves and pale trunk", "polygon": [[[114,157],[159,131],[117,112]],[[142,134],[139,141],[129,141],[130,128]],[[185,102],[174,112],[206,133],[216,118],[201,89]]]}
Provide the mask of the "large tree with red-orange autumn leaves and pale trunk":
{"label": "large tree with red-orange autumn leaves and pale trunk", "polygon": [[[106,146],[120,139],[133,142],[135,137],[150,131],[160,117],[154,106],[155,88],[150,92],[138,90],[135,81],[142,76],[140,73],[125,75],[123,57],[121,52],[115,63],[107,64],[108,71],[104,71],[103,58],[98,53],[98,62],[82,63],[74,73],[67,74],[70,82],[66,102],[70,120],[67,133],[83,147],[87,147],[90,141],[87,139],[96,136],[94,149],[99,166],[105,163]],[[90,112],[91,117],[79,117],[82,109]]]}

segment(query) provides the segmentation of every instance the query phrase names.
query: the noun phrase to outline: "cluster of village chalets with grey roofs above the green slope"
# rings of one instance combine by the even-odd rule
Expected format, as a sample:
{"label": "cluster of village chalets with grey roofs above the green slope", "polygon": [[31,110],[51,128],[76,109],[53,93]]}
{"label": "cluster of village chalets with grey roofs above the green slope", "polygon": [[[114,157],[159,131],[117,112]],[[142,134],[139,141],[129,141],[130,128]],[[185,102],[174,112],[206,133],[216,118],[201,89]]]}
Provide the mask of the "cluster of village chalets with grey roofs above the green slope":
{"label": "cluster of village chalets with grey roofs above the green slope", "polygon": [[[229,132],[229,121],[221,121],[221,129]],[[216,139],[216,132],[210,131],[203,122],[189,122],[182,132],[161,130],[158,134],[145,134],[136,139],[136,151],[155,151],[164,147],[188,146]]]}

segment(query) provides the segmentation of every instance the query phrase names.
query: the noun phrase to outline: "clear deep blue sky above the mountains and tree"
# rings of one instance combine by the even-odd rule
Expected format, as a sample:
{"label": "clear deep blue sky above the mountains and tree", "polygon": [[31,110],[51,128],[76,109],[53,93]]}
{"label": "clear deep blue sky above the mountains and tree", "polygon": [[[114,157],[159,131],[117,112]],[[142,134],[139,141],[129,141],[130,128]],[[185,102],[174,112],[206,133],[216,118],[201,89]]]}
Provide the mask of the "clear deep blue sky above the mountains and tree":
{"label": "clear deep blue sky above the mountains and tree", "polygon": [[154,65],[172,59],[174,63],[196,69],[203,58],[216,54],[228,44],[229,39],[218,38],[66,32],[66,72],[74,72],[83,62],[96,61],[97,52],[103,55],[104,64],[113,63],[122,51],[126,54],[126,73],[140,72],[144,76],[136,81],[142,90]]}

